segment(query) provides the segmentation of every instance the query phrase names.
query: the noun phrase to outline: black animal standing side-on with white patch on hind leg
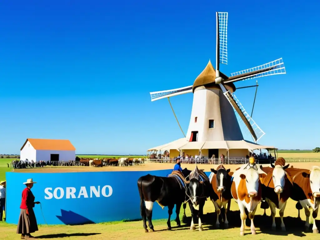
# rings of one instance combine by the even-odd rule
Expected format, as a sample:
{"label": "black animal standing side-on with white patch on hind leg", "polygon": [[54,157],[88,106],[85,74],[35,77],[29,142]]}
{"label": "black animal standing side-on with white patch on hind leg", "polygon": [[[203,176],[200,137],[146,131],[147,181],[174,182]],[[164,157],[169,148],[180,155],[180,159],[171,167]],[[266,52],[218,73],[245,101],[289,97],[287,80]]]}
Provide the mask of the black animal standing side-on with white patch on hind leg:
{"label": "black animal standing side-on with white patch on hind leg", "polygon": [[[188,177],[191,171],[187,168],[182,170],[183,176]],[[176,205],[177,217],[175,221],[180,226],[179,213],[181,204],[186,201],[187,184],[180,177],[158,177],[153,175],[145,175],[138,179],[138,189],[140,193],[140,214],[143,220],[143,228],[147,229],[147,219],[149,228],[154,231],[152,225],[152,207],[157,202],[162,208],[168,206],[168,230],[171,230],[170,217],[174,205]]]}

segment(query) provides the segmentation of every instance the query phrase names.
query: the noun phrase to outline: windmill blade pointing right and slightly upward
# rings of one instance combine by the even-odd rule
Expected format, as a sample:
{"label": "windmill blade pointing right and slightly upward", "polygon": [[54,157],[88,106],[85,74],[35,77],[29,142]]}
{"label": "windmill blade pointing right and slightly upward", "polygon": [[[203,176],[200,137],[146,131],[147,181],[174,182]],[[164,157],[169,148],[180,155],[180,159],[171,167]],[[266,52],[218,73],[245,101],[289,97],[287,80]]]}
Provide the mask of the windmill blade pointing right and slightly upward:
{"label": "windmill blade pointing right and slightly upward", "polygon": [[272,62],[265,63],[263,65],[248,68],[239,72],[231,73],[230,77],[223,81],[223,83],[233,83],[240,80],[248,80],[257,77],[271,76],[285,74],[284,62],[282,58],[274,60]]}

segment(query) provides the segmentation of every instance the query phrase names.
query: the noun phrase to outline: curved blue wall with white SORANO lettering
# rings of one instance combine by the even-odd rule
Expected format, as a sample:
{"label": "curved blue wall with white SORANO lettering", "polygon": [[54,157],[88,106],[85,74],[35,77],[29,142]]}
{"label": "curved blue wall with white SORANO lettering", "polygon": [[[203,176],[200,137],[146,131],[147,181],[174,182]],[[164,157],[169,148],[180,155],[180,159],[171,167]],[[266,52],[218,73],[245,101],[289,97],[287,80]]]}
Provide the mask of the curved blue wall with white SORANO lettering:
{"label": "curved blue wall with white SORANO lettering", "polygon": [[[167,176],[172,170],[139,172],[6,173],[6,222],[18,224],[23,182],[37,182],[34,211],[39,224],[83,224],[140,219],[137,181],[148,173]],[[175,212],[175,209],[173,210]],[[168,218],[168,209],[154,204],[153,219]],[[45,220],[44,220],[45,219]]]}

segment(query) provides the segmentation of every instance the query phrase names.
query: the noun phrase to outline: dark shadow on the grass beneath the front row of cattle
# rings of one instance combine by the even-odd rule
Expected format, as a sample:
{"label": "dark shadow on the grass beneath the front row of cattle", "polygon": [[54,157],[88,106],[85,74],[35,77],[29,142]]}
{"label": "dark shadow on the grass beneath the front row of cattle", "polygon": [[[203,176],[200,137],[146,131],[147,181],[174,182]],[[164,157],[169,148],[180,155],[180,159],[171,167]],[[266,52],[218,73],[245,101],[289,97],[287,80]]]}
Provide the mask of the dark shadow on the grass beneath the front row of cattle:
{"label": "dark shadow on the grass beneath the front row of cattle", "polygon": [[[228,221],[229,226],[228,228],[240,228],[241,227],[241,219],[240,219],[240,211],[229,211],[228,212]],[[224,222],[221,223],[221,218],[224,218],[224,209],[222,209],[221,214],[219,216],[220,221],[220,229],[224,229]],[[217,219],[216,213],[207,213],[204,214],[204,219],[202,220],[203,224],[209,225],[208,227],[205,227],[204,229],[217,229],[215,226]],[[194,223],[198,223],[198,219],[195,218]],[[190,227],[191,225],[191,216],[187,216],[186,218],[182,219],[182,222],[186,224],[186,226]],[[319,226],[319,220],[315,220],[316,225]],[[246,226],[251,225],[251,220],[247,217]],[[281,219],[280,217],[276,217],[276,231],[273,231],[271,229],[272,225],[272,217],[267,215],[256,215],[254,217],[254,226],[256,228],[260,228],[260,231],[265,234],[270,235],[279,235],[279,236],[287,236],[289,234],[293,234],[294,236],[306,236],[304,234],[305,232],[305,221],[302,221],[300,218],[294,218],[294,217],[284,217],[284,225],[286,228],[286,231],[281,231]],[[185,226],[181,226],[185,227]],[[196,226],[197,227],[197,226]],[[312,232],[312,224],[310,224],[310,228],[308,232]],[[257,233],[258,234],[258,233]]]}

